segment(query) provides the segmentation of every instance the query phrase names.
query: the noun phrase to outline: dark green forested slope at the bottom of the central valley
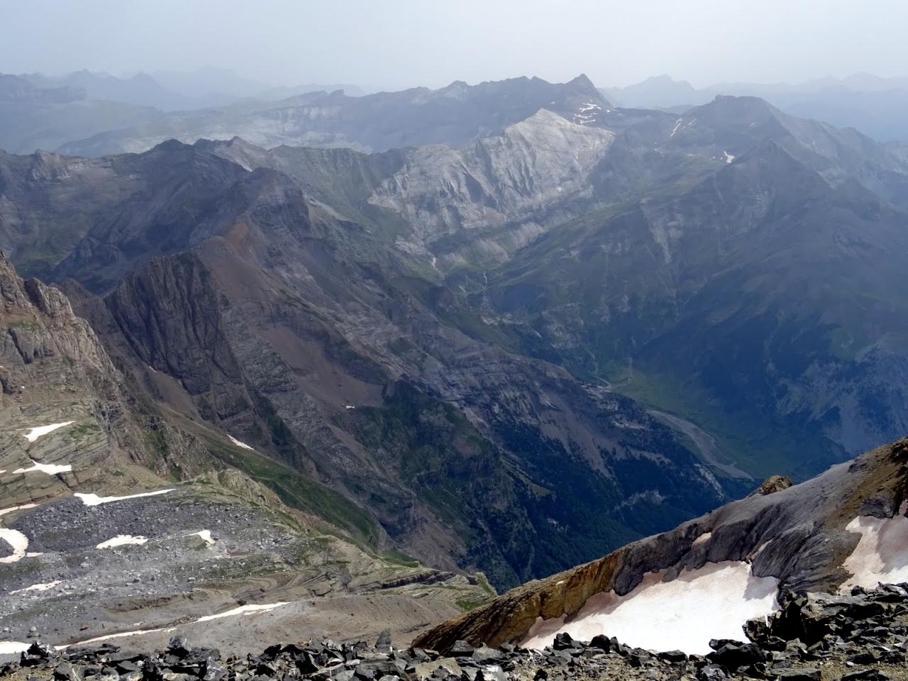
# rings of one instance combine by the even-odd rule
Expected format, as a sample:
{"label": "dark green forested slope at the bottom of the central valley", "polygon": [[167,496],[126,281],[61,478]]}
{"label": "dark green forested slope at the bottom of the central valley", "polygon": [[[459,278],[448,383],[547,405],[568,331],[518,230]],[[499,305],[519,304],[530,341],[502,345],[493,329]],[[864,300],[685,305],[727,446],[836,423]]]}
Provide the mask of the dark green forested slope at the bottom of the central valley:
{"label": "dark green forested slope at the bottom of the central valley", "polygon": [[[490,426],[507,450],[483,437],[452,405],[399,382],[387,390],[381,408],[357,410],[354,434],[458,534],[469,562],[497,587],[598,558],[645,533],[609,515],[620,501],[614,486],[590,475],[586,462],[559,442],[517,419],[502,417]],[[507,451],[519,452],[519,459]],[[553,479],[563,482],[559,489],[573,490],[570,503],[544,484]],[[674,524],[679,511],[666,506],[666,514],[672,513],[671,522],[646,520],[646,533]],[[533,550],[543,543],[547,551]],[[493,592],[488,582],[483,588]]]}

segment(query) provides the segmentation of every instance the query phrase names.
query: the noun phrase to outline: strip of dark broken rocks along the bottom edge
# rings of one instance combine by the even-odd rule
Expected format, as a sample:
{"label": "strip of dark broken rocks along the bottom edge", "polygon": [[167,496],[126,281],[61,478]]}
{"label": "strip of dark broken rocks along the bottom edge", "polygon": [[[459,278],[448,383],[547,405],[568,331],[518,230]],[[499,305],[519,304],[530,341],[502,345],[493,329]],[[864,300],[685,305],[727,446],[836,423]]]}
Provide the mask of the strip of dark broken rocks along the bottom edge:
{"label": "strip of dark broken rocks along the bottom edge", "polygon": [[787,679],[874,681],[908,678],[908,584],[855,588],[849,595],[786,594],[767,620],[744,627],[750,640],[716,640],[706,656],[654,653],[624,646],[615,637],[588,643],[559,635],[554,646],[498,649],[458,642],[445,655],[421,648],[398,650],[390,635],[374,646],[330,640],[279,643],[261,655],[223,656],[174,637],[160,654],[118,646],[56,649],[36,641],[0,677],[89,681],[563,681],[584,679]]}

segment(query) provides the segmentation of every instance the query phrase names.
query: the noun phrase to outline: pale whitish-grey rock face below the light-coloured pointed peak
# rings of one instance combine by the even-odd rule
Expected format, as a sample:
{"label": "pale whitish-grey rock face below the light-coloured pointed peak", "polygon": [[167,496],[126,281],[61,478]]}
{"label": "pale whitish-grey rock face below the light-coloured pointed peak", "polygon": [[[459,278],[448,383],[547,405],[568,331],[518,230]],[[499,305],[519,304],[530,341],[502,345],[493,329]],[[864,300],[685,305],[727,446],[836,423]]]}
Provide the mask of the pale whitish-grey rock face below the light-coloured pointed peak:
{"label": "pale whitish-grey rock face below the light-coloured pointed peak", "polygon": [[[590,172],[613,139],[541,109],[462,150],[408,152],[369,202],[402,216],[414,232],[407,245],[437,256],[439,268],[497,262],[544,232],[569,202],[591,198]],[[473,241],[466,232],[478,230],[459,254]]]}

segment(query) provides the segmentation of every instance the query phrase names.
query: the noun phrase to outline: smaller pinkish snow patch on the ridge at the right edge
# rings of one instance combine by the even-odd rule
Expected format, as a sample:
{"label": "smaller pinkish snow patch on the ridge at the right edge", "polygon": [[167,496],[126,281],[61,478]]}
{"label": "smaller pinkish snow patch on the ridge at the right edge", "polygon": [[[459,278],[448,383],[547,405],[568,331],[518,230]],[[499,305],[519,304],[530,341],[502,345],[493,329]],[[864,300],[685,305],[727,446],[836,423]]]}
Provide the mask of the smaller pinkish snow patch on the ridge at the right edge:
{"label": "smaller pinkish snow patch on the ridge at the right edge", "polygon": [[860,533],[861,538],[843,564],[852,573],[842,585],[843,593],[854,586],[873,588],[878,582],[908,581],[908,518],[859,516],[845,529]]}

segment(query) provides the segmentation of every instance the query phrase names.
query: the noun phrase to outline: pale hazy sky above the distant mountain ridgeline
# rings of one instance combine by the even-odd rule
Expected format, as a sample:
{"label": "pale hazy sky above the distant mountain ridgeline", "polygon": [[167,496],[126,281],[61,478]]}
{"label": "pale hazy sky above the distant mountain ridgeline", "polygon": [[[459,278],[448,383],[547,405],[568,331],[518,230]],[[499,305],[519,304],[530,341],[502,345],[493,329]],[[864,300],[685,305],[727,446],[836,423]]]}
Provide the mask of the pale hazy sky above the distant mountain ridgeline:
{"label": "pale hazy sky above the distant mountain ridgeline", "polygon": [[908,74],[905,0],[0,0],[0,16],[3,73],[212,65],[386,88]]}

